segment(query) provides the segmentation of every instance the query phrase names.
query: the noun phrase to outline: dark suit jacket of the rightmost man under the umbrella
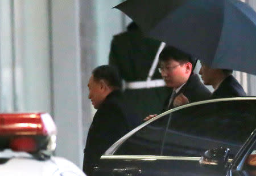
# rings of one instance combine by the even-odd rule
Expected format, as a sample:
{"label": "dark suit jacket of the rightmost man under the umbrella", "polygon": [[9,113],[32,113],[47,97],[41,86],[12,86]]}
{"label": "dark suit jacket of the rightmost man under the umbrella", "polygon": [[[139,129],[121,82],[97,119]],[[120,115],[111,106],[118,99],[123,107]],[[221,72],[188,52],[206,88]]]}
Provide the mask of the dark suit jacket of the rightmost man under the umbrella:
{"label": "dark suit jacket of the rightmost man under the umbrella", "polygon": [[224,98],[224,97],[241,97],[246,96],[242,86],[238,83],[234,76],[230,75],[225,78],[219,87],[212,93],[211,98]]}

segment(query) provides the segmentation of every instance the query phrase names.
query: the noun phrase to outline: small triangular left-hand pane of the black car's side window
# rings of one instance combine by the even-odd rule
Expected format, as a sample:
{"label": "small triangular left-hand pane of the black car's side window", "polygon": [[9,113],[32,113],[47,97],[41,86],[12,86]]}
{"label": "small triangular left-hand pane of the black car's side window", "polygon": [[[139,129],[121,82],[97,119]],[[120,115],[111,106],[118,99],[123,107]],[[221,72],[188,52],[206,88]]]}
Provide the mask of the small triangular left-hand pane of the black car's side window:
{"label": "small triangular left-hand pane of the black car's side window", "polygon": [[141,128],[127,139],[114,153],[115,155],[160,155],[163,132],[167,118],[161,118],[148,126]]}

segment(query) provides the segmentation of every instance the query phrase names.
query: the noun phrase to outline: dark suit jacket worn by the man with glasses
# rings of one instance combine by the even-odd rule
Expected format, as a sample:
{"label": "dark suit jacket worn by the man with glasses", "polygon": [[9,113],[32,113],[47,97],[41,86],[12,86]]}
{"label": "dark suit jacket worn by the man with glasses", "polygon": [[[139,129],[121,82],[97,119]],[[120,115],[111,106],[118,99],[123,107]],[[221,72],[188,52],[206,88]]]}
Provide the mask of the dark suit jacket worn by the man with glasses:
{"label": "dark suit jacket worn by the man with glasses", "polygon": [[[191,74],[187,83],[183,85],[179,92],[177,92],[176,96],[183,93],[185,97],[188,98],[189,103],[208,100],[212,93],[210,93],[209,89],[207,89],[203,83],[201,83],[199,76],[196,74]],[[171,95],[170,95],[171,96]],[[171,105],[168,107],[170,96],[168,96],[167,100],[164,103],[164,111],[174,108],[174,99],[171,102]]]}

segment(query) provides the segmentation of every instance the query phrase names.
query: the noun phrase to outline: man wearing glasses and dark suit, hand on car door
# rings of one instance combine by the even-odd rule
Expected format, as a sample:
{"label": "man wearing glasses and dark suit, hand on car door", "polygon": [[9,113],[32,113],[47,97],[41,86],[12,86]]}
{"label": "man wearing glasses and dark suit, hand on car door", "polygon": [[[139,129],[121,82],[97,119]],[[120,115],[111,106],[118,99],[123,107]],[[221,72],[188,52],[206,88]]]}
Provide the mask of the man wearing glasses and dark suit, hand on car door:
{"label": "man wearing glasses and dark suit, hand on car door", "polygon": [[[159,71],[167,87],[172,88],[171,95],[164,104],[164,111],[189,102],[207,100],[210,91],[201,83],[199,76],[193,74],[191,56],[172,46],[166,46],[159,55]],[[148,115],[147,121],[154,115]]]}

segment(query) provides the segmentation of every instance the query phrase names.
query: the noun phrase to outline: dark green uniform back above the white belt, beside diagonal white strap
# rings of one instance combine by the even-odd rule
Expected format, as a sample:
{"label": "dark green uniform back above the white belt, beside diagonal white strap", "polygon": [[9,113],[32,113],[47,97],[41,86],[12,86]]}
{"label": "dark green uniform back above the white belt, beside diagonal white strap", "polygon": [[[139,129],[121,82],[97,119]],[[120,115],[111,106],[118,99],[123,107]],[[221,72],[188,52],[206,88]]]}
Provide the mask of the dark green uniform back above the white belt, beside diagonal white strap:
{"label": "dark green uniform back above the white belt, beside diagonal white strap", "polygon": [[[109,64],[118,68],[125,81],[144,81],[154,61],[160,41],[146,38],[142,32],[131,30],[113,37]],[[152,79],[161,79],[158,71]]]}

